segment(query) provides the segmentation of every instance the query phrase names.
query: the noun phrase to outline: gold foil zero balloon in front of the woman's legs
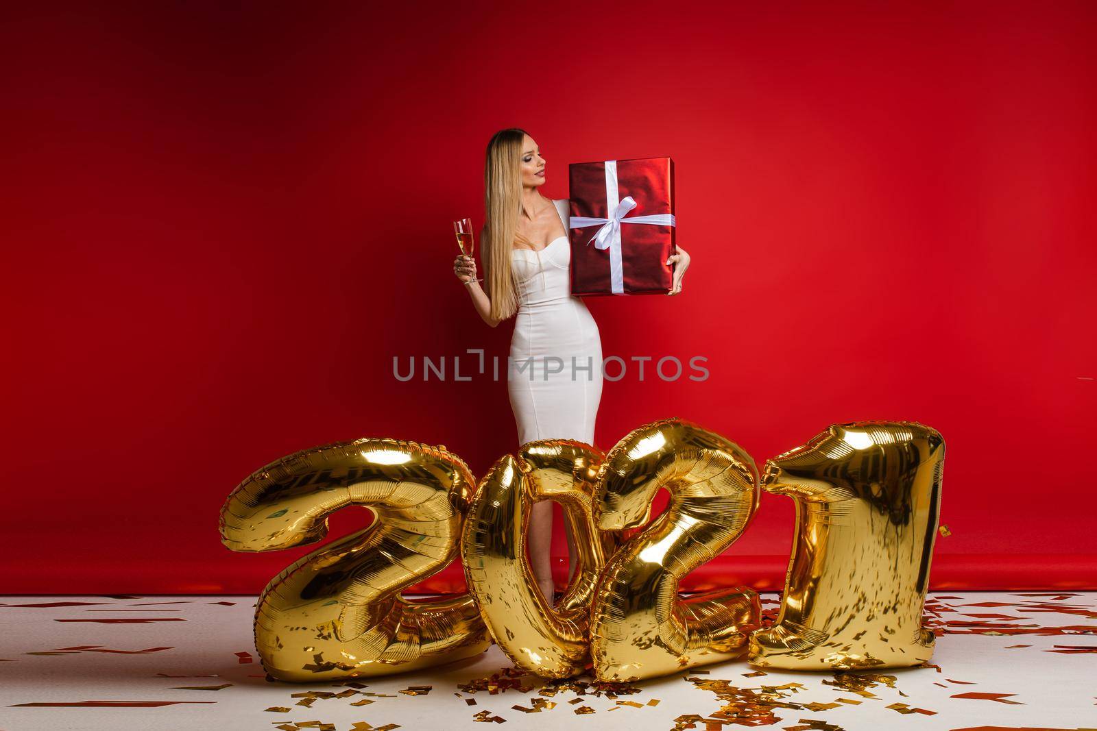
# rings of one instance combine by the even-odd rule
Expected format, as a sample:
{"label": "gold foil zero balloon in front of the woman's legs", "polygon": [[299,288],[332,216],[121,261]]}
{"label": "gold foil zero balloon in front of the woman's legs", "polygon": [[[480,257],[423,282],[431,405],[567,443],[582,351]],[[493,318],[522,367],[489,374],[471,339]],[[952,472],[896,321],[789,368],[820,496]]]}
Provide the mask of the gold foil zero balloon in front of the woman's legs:
{"label": "gold foil zero balloon in front of the woman's legs", "polygon": [[[599,572],[617,547],[590,514],[590,495],[604,455],[581,442],[542,439],[496,461],[480,481],[462,538],[470,591],[498,644],[516,666],[546,677],[583,672],[587,626]],[[536,589],[527,560],[530,509],[552,500],[578,553],[567,592],[554,608]]]}

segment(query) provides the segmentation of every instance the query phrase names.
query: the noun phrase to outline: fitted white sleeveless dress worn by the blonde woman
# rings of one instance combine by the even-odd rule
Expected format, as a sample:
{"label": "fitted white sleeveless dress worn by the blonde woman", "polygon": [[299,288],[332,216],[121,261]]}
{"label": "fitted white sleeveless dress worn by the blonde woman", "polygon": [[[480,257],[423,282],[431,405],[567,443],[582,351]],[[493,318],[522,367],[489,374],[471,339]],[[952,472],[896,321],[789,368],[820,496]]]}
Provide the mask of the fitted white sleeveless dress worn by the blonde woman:
{"label": "fitted white sleeveless dress worn by the blonde woman", "polygon": [[[553,204],[566,232],[567,201]],[[567,236],[544,249],[514,249],[511,254],[519,307],[507,389],[520,445],[551,438],[595,443],[602,343],[586,304],[570,294],[570,262]]]}

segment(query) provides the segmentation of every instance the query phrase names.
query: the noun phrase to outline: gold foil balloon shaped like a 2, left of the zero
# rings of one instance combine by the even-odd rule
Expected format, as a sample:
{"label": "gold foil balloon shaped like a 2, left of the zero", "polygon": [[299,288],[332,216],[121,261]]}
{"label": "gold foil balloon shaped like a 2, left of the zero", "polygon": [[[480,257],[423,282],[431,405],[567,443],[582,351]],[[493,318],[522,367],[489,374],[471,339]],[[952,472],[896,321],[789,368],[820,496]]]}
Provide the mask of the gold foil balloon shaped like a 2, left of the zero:
{"label": "gold foil balloon shaped like a 2, left of the zero", "polygon": [[256,647],[282,681],[419,670],[490,643],[467,594],[411,603],[400,590],[459,550],[474,481],[444,446],[363,438],[305,449],[263,467],[228,496],[222,542],[271,551],[315,542],[327,516],[363,505],[376,521],[295,561],[256,608]]}

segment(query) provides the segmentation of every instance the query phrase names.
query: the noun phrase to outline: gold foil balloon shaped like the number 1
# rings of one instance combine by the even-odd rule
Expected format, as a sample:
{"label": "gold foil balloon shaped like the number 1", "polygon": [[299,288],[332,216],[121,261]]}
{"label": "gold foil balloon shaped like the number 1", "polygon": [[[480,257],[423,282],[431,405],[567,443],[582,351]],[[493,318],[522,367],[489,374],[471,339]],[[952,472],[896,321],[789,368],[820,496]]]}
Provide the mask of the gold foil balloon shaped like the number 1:
{"label": "gold foil balloon shaped like the number 1", "polygon": [[783,670],[905,667],[930,659],[921,626],[945,442],[915,423],[832,426],[766,464],[796,533],[781,613],[748,662]]}

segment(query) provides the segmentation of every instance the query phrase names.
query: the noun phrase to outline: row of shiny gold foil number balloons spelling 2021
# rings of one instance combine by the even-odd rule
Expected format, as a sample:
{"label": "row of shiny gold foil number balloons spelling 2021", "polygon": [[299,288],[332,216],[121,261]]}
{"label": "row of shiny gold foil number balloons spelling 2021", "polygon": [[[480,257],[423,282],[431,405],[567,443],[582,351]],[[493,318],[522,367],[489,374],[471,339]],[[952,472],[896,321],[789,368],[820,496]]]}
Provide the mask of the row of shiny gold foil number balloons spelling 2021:
{"label": "row of shiny gold foil number balloons spelling 2021", "polygon": [[[904,667],[930,659],[921,626],[940,513],[945,442],[913,422],[829,427],[766,464],[681,419],[645,424],[608,454],[543,439],[477,487],[444,446],[388,438],[324,445],[257,470],[222,509],[237,551],[315,542],[348,505],[376,519],[295,561],[256,607],[256,647],[282,681],[352,678],[471,658],[491,639],[519,667],[601,682],[745,659],[759,667]],[[727,549],[759,488],[792,498],[796,530],[776,623],[732,586],[688,598],[682,576]],[[648,523],[660,489],[667,510]],[[530,506],[564,509],[578,560],[550,606],[525,559]],[[627,540],[622,532],[643,528]],[[457,553],[470,593],[400,591]]]}

